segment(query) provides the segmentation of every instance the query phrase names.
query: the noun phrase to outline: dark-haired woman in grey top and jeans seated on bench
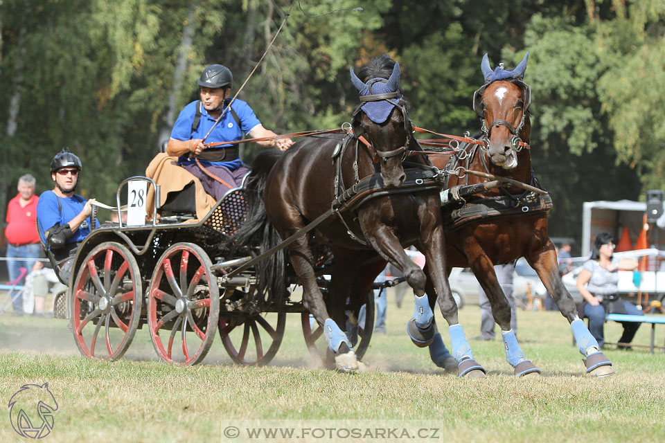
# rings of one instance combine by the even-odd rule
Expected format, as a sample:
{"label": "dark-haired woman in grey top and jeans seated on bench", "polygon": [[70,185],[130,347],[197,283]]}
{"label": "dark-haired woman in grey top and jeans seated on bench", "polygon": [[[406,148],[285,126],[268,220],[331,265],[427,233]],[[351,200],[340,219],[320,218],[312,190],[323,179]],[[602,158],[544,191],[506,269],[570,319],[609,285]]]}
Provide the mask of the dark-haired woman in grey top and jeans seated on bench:
{"label": "dark-haired woman in grey top and jeans seated on bench", "polygon": [[[584,298],[584,316],[589,318],[589,332],[596,338],[598,345],[603,347],[605,338],[603,336],[603,324],[605,323],[605,305],[610,298],[615,298],[619,293],[619,268],[633,270],[637,268],[637,260],[623,258],[612,260],[614,243],[610,233],[599,233],[594,243],[594,251],[591,260],[585,262],[582,271],[577,276],[577,290]],[[644,315],[644,313],[629,302],[623,301],[623,309],[626,314]],[[619,338],[619,347],[630,347],[628,343],[637,332],[641,323],[622,322],[623,335]]]}

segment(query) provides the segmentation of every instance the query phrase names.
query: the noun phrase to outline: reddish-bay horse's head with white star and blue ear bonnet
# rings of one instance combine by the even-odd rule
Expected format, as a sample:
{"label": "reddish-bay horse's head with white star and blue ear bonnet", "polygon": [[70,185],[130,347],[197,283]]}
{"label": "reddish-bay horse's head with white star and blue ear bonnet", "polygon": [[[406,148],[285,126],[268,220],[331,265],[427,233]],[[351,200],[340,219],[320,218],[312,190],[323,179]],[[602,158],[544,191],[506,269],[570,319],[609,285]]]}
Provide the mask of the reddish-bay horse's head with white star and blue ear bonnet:
{"label": "reddish-bay horse's head with white star and blue ear bonnet", "polygon": [[485,54],[481,68],[486,83],[474,93],[473,108],[483,121],[490,161],[506,170],[517,168],[518,154],[528,146],[531,133],[531,90],[524,83],[528,58],[526,53],[513,71],[503,64],[492,70]]}

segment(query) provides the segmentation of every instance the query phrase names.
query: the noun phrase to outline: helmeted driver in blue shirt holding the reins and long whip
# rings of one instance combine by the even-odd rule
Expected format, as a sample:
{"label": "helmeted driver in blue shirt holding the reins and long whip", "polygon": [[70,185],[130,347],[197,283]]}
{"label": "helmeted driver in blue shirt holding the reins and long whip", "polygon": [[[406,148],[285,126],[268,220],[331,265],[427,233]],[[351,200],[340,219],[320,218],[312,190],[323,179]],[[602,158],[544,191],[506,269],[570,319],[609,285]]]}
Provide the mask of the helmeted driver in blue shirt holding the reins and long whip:
{"label": "helmeted driver in blue shirt holding the reins and long whip", "polygon": [[[229,96],[232,82],[233,75],[226,66],[212,64],[204,69],[197,82],[201,100],[191,102],[180,112],[166,145],[167,154],[178,156],[177,164],[195,175],[204,190],[217,201],[229,189],[240,186],[249,170],[240,160],[238,145],[206,149],[203,139],[205,143],[215,143],[240,140],[243,133],[251,138],[277,135],[261,125],[247,102],[237,98],[215,125],[224,108],[231,102]],[[215,127],[208,135],[213,125]],[[287,150],[293,141],[281,138],[257,143],[263,147]]]}

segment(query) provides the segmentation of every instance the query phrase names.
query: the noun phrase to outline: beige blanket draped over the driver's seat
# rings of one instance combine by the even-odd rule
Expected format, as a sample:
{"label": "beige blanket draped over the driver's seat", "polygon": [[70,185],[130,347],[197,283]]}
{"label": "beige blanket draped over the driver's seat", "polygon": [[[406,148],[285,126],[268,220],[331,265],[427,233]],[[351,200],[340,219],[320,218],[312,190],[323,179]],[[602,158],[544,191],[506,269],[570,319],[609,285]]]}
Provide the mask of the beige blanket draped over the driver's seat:
{"label": "beige blanket draped over the driver's seat", "polygon": [[[196,198],[196,220],[202,220],[215,206],[217,201],[209,195],[204,189],[197,177],[185,168],[176,165],[177,157],[168,156],[160,152],[150,161],[150,165],[145,169],[145,177],[153,179],[160,187],[159,206],[166,203],[169,192],[183,190],[189,183],[194,182]],[[152,202],[154,201],[154,189],[148,186],[148,198],[146,200],[146,212],[148,219],[152,219]]]}

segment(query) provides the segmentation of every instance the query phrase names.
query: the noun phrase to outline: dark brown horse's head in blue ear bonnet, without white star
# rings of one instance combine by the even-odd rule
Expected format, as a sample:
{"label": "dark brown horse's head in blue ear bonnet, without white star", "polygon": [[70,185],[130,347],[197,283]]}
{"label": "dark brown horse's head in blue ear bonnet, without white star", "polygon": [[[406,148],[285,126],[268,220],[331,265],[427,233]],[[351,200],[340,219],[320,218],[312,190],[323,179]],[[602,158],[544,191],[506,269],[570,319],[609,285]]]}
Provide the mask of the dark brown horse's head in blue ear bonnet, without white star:
{"label": "dark brown horse's head in blue ear bonnet, without white star", "polygon": [[411,142],[411,122],[400,93],[400,64],[383,55],[360,72],[364,82],[351,68],[351,81],[361,102],[353,113],[353,134],[369,144],[385,186],[398,188],[406,179],[402,159]]}

